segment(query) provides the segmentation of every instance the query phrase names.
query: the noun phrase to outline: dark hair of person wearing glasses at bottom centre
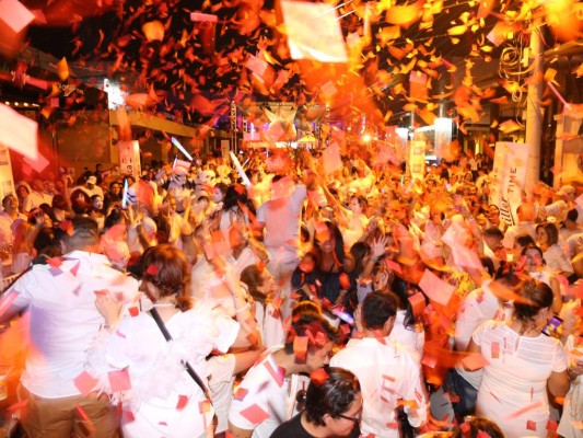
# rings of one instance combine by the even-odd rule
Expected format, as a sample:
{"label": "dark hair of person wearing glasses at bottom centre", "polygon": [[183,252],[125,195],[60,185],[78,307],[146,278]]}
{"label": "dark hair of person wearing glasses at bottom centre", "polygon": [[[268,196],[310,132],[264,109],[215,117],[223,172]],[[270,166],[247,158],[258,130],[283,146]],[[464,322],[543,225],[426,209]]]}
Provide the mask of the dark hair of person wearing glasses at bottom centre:
{"label": "dark hair of person wearing glasses at bottom centre", "polygon": [[312,380],[305,400],[306,419],[318,426],[326,425],[326,414],[339,418],[349,411],[360,393],[360,383],[352,372],[328,366],[323,370],[327,374],[326,380]]}

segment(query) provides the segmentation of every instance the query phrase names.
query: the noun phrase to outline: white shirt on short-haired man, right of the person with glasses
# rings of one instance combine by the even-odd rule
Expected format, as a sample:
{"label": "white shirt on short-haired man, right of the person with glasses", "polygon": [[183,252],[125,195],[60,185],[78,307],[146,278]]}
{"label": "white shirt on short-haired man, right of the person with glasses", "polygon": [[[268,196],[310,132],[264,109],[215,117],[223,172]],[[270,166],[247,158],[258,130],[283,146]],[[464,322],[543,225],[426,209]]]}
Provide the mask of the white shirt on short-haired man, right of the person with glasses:
{"label": "white shirt on short-haired man, right of the person with glasses", "polygon": [[407,348],[388,338],[382,341],[384,343],[372,337],[350,339],[346,348],[330,359],[330,366],[347,369],[359,379],[364,402],[361,435],[398,438],[398,402],[411,402],[405,403],[405,412],[410,425],[418,427],[427,419],[427,396],[419,361]]}

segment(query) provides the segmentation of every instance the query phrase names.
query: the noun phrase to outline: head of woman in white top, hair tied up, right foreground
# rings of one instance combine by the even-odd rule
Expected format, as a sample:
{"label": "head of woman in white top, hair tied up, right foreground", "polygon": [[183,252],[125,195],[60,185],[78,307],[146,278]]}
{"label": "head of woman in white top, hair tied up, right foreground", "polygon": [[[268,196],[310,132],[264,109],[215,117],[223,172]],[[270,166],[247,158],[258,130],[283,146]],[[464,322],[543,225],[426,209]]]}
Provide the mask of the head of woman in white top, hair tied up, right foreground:
{"label": "head of woman in white top, hair tied up, right foreground", "polygon": [[546,283],[534,279],[525,280],[520,289],[522,299],[514,302],[514,314],[517,320],[534,323],[543,328],[547,325],[548,318],[552,315],[552,289]]}

